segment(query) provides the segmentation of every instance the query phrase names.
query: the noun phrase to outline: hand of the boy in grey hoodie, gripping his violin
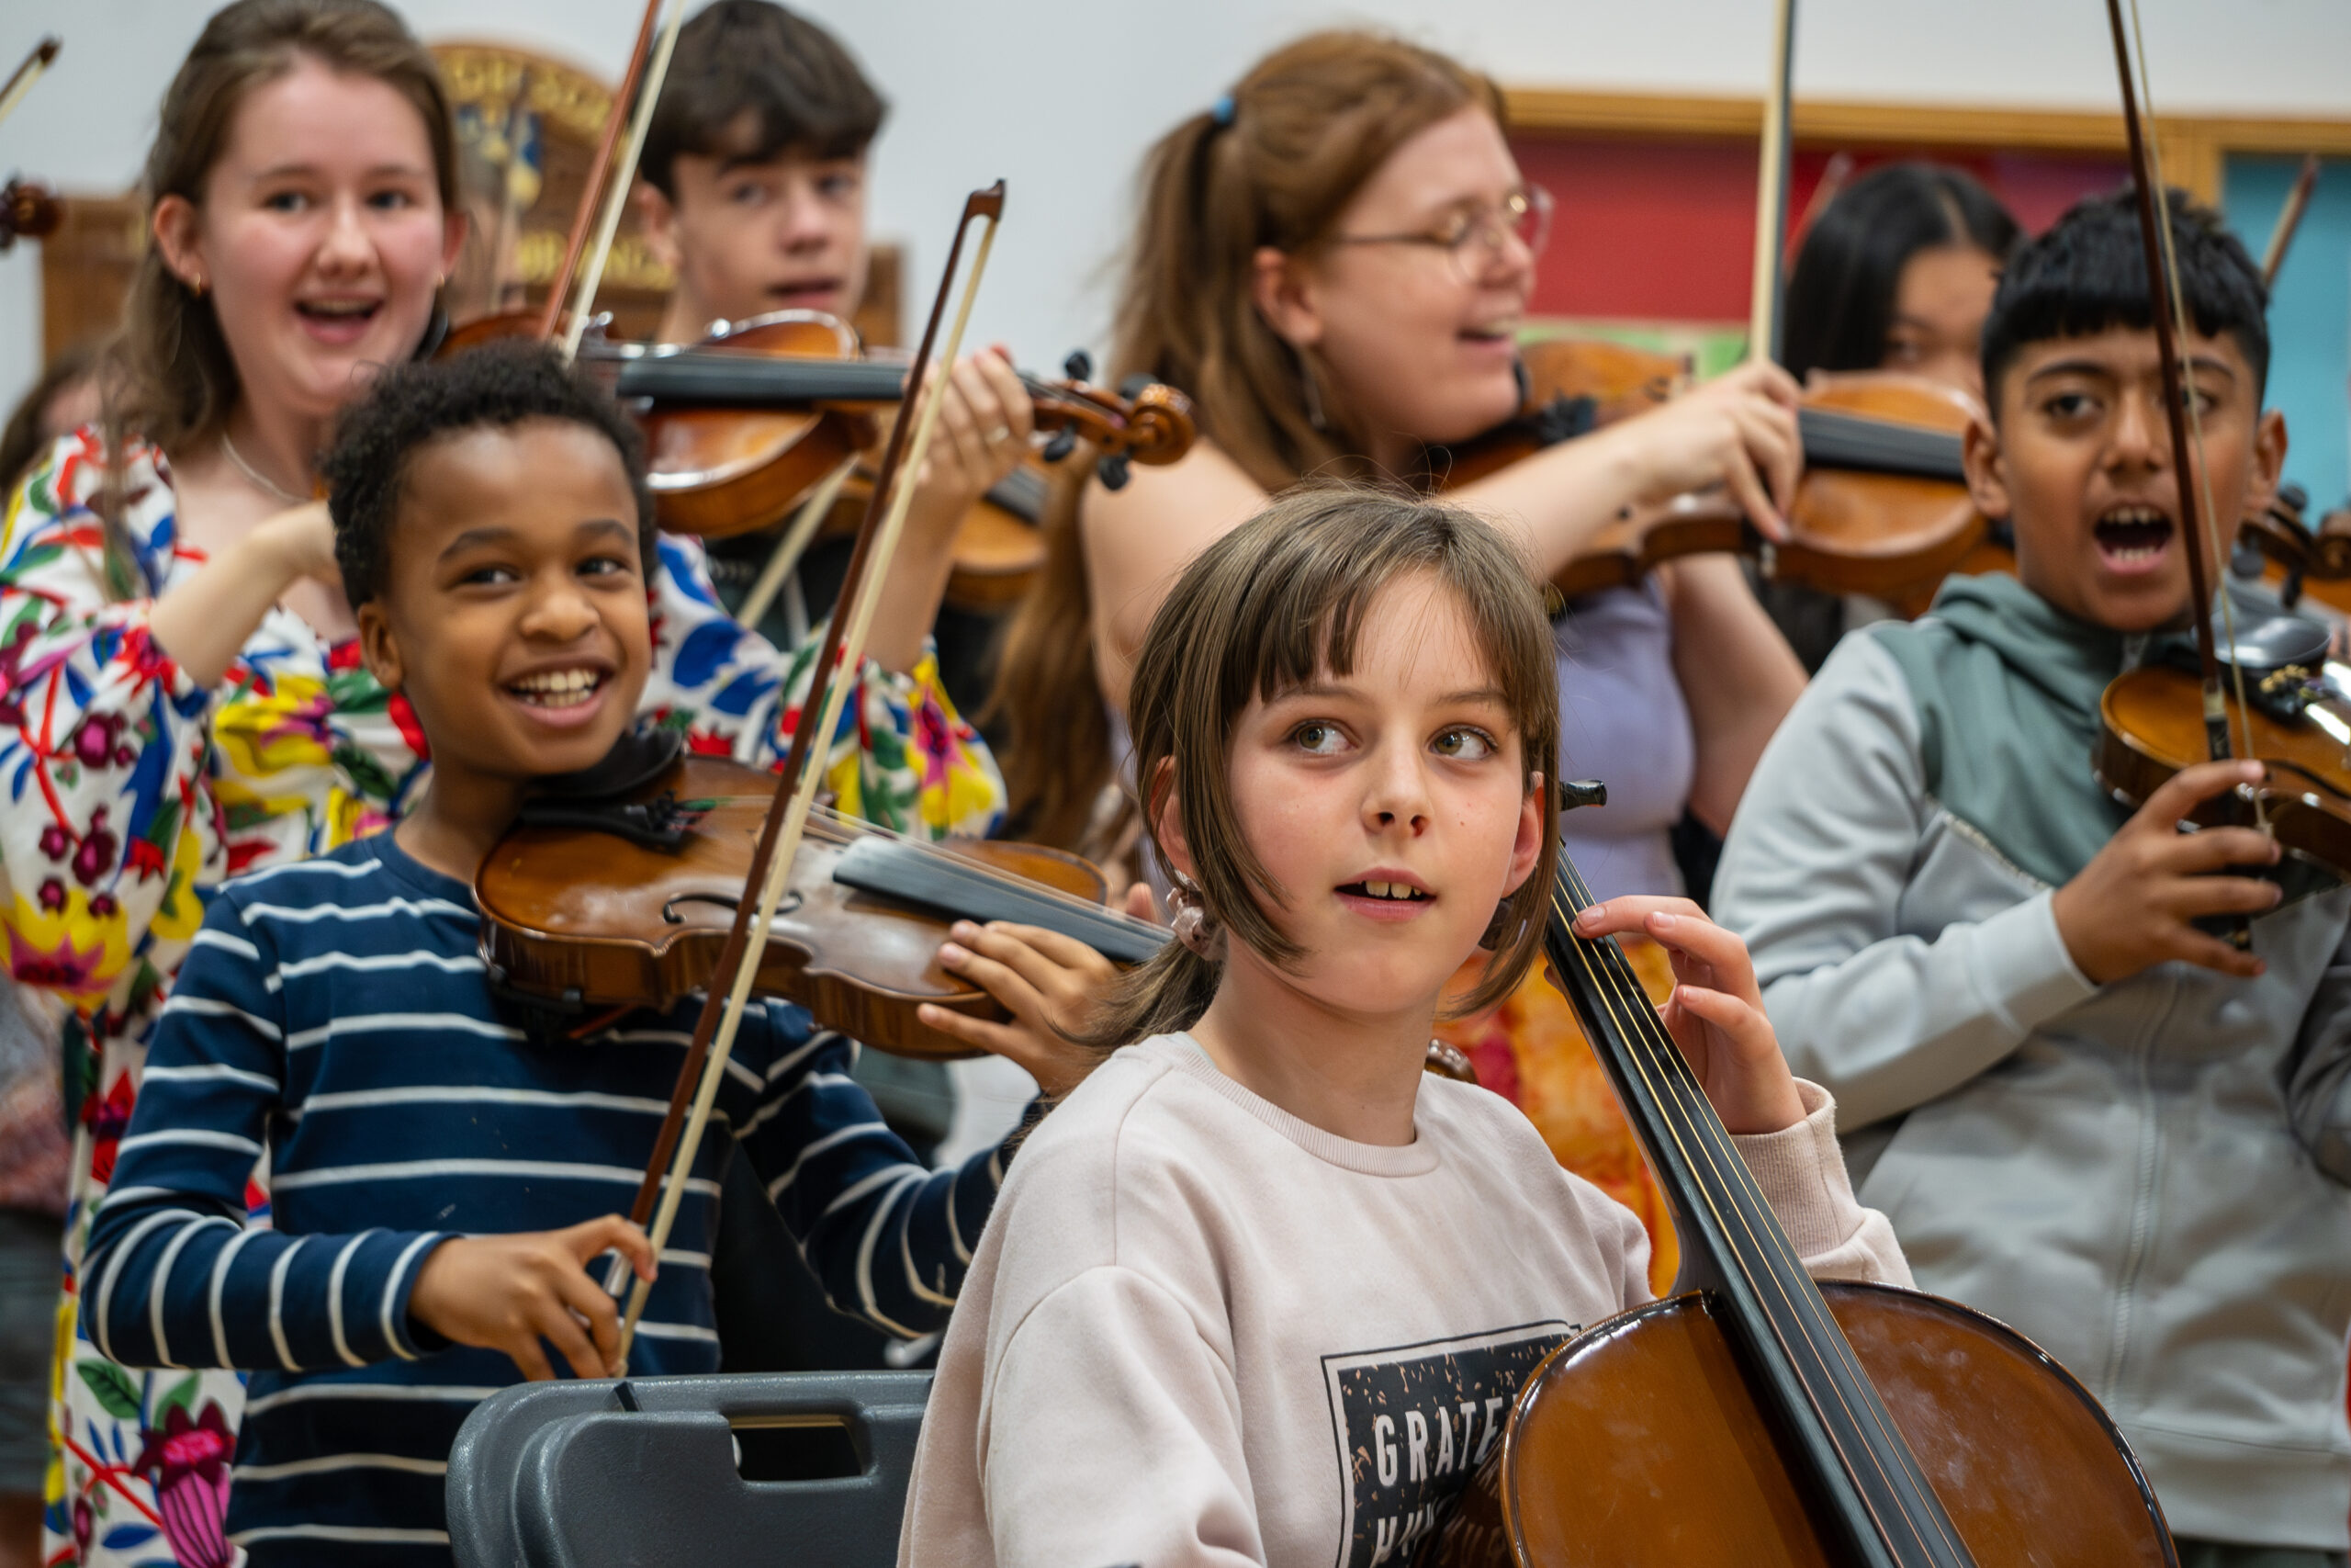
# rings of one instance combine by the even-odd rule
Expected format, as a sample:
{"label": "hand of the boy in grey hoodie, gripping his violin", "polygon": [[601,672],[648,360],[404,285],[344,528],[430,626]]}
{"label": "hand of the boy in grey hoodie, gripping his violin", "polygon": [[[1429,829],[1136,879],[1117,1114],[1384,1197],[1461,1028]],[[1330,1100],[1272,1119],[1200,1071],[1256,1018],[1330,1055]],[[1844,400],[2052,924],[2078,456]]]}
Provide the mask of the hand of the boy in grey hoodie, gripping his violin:
{"label": "hand of the boy in grey hoodie, gripping his violin", "polygon": [[2283,889],[2259,877],[2226,877],[2231,865],[2276,865],[2278,844],[2255,827],[2179,832],[2198,804],[2259,783],[2259,762],[2198,762],[2179,769],[2057,889],[2050,912],[2064,950],[2097,985],[2114,985],[2168,959],[2255,978],[2262,959],[2198,931],[2205,914],[2273,910]]}

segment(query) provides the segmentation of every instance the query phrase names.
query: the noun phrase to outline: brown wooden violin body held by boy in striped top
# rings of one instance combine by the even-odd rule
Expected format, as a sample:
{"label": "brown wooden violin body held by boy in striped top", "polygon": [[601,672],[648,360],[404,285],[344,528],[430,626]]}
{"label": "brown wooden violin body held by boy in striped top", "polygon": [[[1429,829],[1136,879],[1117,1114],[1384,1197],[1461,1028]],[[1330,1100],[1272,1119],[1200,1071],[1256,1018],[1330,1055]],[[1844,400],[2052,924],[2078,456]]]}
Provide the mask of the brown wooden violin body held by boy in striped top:
{"label": "brown wooden violin body held by boy in striped top", "polygon": [[[637,795],[668,795],[694,816],[677,849],[524,823],[482,863],[482,959],[501,985],[581,1009],[665,1006],[710,985],[776,776],[719,757],[679,757]],[[823,1027],[868,1046],[973,1056],[917,1020],[917,1004],[976,1018],[1004,1018],[1004,1009],[938,966],[945,917],[835,879],[860,837],[811,818],[771,940],[755,959],[757,992],[799,1001]],[[1105,893],[1093,865],[1058,849],[969,842],[926,853],[1093,903]]]}

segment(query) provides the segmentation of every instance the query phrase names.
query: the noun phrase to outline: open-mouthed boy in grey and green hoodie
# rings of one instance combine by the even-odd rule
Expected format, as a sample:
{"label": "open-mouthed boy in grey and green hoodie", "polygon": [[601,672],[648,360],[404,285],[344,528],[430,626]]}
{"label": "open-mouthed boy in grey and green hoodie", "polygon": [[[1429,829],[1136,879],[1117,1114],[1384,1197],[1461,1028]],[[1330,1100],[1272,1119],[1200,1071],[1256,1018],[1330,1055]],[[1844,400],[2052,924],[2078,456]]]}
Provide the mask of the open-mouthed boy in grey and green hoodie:
{"label": "open-mouthed boy in grey and green hoodie", "polygon": [[[2186,197],[2172,244],[2203,482],[2236,520],[2285,461],[2262,282]],[[2090,1387],[2182,1561],[2344,1563],[2351,889],[2245,875],[2278,860],[2250,827],[2184,832],[2255,764],[2135,813],[2090,773],[2099,696],[2179,654],[2205,550],[2151,322],[2130,193],[2008,263],[1965,456],[2017,576],[1838,644],[1747,785],[1714,912],[1921,1288]],[[2215,914],[2252,917],[2252,950],[2193,924]]]}

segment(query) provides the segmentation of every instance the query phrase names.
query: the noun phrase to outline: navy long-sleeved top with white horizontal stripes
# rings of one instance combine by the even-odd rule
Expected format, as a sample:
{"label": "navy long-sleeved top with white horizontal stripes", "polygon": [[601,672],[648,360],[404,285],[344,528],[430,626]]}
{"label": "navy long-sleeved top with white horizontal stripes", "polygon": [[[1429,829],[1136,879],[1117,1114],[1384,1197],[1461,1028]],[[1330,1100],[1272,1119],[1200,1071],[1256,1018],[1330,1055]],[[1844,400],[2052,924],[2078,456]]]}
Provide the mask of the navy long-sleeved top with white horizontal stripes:
{"label": "navy long-sleeved top with white horizontal stripes", "polygon": [[[449,1237],[625,1213],[651,1154],[694,1004],[531,1044],[489,990],[477,931],[473,891],[390,835],[242,877],[214,896],[155,1032],[82,1314],[129,1366],[254,1371],[228,1533],[256,1568],[353,1547],[449,1561],[449,1446],[520,1371],[409,1321],[416,1272]],[[802,1009],[755,1006],[715,1119],[835,1305],[926,1333],[964,1281],[1002,1157],[915,1164],[849,1077],[853,1053]],[[717,1371],[722,1145],[696,1159],[632,1373]],[[263,1154],[275,1229],[245,1222]]]}

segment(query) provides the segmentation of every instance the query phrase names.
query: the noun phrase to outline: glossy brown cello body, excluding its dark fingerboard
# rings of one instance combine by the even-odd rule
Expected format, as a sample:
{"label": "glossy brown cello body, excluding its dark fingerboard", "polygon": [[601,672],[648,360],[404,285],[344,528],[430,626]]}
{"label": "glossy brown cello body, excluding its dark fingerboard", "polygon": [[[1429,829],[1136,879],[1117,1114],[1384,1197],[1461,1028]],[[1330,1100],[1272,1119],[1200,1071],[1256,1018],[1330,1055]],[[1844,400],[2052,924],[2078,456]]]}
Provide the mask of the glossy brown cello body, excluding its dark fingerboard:
{"label": "glossy brown cello body, excluding its dark fingerboard", "polygon": [[[1982,1568],[2179,1561],[2123,1434],[2031,1340],[1916,1291],[1822,1295]],[[1716,1302],[1686,1293],[1594,1324],[1535,1368],[1429,1561],[1846,1559],[1775,1446]]]}

